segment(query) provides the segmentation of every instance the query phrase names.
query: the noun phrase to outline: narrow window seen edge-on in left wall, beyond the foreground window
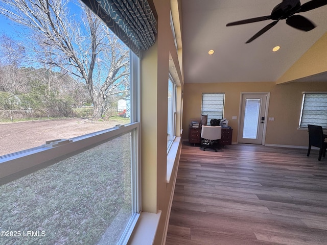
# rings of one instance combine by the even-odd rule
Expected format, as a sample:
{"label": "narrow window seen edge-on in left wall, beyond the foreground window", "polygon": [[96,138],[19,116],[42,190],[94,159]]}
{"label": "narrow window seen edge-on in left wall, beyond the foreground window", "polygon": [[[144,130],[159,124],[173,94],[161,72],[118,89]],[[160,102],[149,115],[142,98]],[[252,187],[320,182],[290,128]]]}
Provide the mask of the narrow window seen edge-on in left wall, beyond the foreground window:
{"label": "narrow window seen edge-on in left wall, beyond the foreground window", "polygon": [[167,149],[169,151],[171,144],[175,139],[176,130],[176,84],[173,79],[168,79],[168,124],[167,124]]}

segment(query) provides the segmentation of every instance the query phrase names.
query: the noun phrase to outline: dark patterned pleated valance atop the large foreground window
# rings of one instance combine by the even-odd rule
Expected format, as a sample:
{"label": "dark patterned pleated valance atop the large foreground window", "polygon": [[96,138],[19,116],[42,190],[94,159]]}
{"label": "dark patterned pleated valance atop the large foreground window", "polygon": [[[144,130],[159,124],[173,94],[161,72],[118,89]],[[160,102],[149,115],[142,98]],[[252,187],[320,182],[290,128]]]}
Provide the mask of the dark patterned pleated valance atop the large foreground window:
{"label": "dark patterned pleated valance atop the large foreground window", "polygon": [[139,58],[155,42],[156,20],[147,0],[83,0]]}

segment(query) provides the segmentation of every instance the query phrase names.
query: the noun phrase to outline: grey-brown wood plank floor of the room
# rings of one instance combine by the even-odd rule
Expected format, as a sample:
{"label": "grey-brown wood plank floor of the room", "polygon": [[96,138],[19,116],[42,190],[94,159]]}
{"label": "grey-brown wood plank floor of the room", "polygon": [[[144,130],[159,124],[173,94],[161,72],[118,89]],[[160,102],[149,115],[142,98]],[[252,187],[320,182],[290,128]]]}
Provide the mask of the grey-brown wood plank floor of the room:
{"label": "grey-brown wood plank floor of the room", "polygon": [[327,157],[184,142],[166,245],[326,245]]}

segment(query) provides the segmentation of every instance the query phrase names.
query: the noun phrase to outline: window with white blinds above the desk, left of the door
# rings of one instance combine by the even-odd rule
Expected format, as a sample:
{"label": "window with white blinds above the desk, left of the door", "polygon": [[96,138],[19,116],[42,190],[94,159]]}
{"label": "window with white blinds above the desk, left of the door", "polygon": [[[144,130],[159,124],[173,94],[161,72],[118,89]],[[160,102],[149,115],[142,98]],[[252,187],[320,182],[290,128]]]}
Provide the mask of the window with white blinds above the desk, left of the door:
{"label": "window with white blinds above the desk, left of the door", "polygon": [[207,125],[213,118],[222,119],[224,115],[225,93],[202,93],[202,115],[208,115]]}

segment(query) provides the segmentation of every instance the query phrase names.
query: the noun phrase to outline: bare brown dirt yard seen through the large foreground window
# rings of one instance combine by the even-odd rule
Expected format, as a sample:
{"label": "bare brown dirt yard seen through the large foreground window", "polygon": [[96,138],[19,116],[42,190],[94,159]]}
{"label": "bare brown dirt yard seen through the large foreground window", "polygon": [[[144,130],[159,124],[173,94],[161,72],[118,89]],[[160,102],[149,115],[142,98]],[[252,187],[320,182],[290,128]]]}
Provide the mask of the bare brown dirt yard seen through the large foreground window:
{"label": "bare brown dirt yard seen through the large foreground window", "polygon": [[0,124],[0,156],[40,146],[47,140],[73,138],[117,124],[123,122],[73,118]]}

